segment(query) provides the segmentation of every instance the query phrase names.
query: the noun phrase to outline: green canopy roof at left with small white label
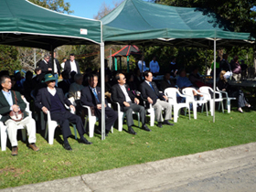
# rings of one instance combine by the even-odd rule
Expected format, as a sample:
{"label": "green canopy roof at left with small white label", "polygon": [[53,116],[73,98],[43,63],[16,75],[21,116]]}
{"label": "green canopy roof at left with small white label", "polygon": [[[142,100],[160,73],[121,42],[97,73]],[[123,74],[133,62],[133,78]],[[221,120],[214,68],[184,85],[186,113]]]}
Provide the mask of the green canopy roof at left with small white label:
{"label": "green canopy roof at left with small white label", "polygon": [[101,21],[60,14],[27,0],[1,0],[0,7],[0,44],[50,50],[101,43]]}

